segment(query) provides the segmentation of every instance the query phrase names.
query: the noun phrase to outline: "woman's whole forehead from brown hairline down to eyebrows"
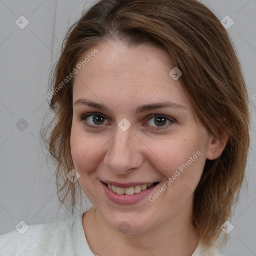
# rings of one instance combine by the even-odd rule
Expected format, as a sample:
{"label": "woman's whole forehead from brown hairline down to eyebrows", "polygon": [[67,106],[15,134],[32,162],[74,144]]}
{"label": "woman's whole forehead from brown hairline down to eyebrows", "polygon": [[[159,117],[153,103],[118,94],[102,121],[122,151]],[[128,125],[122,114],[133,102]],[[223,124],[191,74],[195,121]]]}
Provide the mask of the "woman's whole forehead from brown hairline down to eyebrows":
{"label": "woman's whole forehead from brown hairline down to eyebrows", "polygon": [[[96,54],[92,52],[98,51]],[[82,62],[86,59],[85,62]],[[113,99],[173,101],[190,106],[183,90],[182,79],[174,80],[169,72],[174,68],[168,53],[152,45],[128,46],[108,41],[84,53],[77,62],[80,70],[74,77],[73,101],[90,97],[104,102]]]}

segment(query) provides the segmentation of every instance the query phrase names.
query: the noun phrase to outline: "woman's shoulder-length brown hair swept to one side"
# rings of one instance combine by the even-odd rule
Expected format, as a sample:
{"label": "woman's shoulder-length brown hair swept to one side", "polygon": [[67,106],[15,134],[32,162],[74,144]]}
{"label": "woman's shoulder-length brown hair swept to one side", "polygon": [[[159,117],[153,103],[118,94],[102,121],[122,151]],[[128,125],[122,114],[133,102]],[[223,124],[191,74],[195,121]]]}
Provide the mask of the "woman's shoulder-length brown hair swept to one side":
{"label": "woman's shoulder-length brown hair swept to one side", "polygon": [[73,213],[81,187],[66,177],[74,169],[70,151],[73,79],[56,89],[82,53],[109,38],[165,49],[183,72],[184,89],[203,125],[220,141],[221,134],[228,135],[223,153],[206,160],[194,191],[193,221],[202,243],[209,246],[220,236],[220,226],[231,217],[239,196],[250,118],[247,89],[231,39],[218,18],[196,0],[101,0],[71,26],[52,76],[55,93],[51,93],[50,108],[55,116],[49,138],[44,138],[57,163],[59,199],[65,206],[71,201],[66,207],[71,206]]}

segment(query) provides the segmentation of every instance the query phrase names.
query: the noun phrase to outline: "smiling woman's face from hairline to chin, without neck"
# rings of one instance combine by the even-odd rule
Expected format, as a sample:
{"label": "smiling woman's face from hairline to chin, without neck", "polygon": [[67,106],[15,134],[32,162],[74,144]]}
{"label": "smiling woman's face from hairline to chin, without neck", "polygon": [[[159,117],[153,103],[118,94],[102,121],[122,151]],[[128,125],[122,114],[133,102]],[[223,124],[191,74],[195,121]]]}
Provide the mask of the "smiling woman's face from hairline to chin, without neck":
{"label": "smiling woman's face from hairline to chin, without neck", "polygon": [[169,74],[170,57],[154,46],[108,41],[96,49],[79,59],[89,57],[73,87],[71,153],[83,191],[117,231],[189,216],[212,137],[193,115],[182,76]]}

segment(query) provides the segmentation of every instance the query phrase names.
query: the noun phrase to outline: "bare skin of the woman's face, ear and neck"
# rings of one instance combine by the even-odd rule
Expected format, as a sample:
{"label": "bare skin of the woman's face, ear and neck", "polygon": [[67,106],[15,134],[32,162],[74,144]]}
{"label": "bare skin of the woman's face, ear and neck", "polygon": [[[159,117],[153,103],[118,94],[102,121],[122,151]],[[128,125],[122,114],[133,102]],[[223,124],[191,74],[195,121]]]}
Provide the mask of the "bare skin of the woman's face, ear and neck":
{"label": "bare skin of the woman's face, ear and neck", "polygon": [[[74,104],[70,141],[78,181],[93,204],[82,220],[88,244],[100,256],[192,255],[199,242],[192,224],[193,191],[206,159],[217,158],[227,138],[221,143],[202,125],[185,94],[182,76],[174,80],[169,75],[174,66],[163,49],[120,41],[96,48],[98,53],[74,77],[73,103],[86,98],[110,111]],[[164,101],[185,108],[135,113],[140,105]],[[79,120],[92,112],[105,117],[102,124],[93,122],[93,116]],[[164,119],[161,126],[151,114],[173,121]],[[126,131],[118,127],[123,118],[131,123]],[[86,127],[86,121],[99,128]],[[154,195],[197,151],[200,156],[154,202],[146,197],[133,205],[115,204],[100,183],[159,181],[150,193]],[[123,221],[128,223],[127,233],[118,228]]]}

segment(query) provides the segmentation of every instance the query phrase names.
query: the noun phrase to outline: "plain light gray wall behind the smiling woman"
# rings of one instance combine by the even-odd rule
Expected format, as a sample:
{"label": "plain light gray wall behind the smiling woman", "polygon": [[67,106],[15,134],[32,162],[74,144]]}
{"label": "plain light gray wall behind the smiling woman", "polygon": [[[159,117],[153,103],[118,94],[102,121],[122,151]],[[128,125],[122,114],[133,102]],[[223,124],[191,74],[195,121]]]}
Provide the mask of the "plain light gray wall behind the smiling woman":
{"label": "plain light gray wall behind the smiling woman", "polygon": [[[234,21],[228,32],[248,85],[252,117],[247,184],[244,183],[230,220],[234,229],[221,252],[253,256],[256,255],[256,96],[253,96],[256,0],[201,2],[219,20],[228,15]],[[39,131],[49,109],[46,98],[49,75],[59,56],[60,44],[67,28],[93,3],[94,0],[0,0],[0,235],[14,230],[21,220],[30,225],[71,215],[62,208],[58,210],[54,165],[50,160],[46,162],[47,151]],[[29,21],[24,29],[15,24],[21,15]],[[28,127],[16,126],[21,118]]]}

